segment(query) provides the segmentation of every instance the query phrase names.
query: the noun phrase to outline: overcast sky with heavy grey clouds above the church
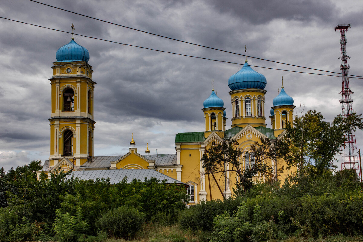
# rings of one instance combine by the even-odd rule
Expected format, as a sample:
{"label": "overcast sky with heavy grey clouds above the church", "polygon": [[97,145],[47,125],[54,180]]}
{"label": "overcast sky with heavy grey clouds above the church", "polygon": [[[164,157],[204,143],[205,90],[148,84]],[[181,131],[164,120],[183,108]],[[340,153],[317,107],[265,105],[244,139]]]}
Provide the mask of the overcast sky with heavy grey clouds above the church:
{"label": "overcast sky with heavy grey clouds above the church", "polygon": [[[350,74],[363,75],[363,1],[128,0],[46,1],[83,15],[183,41],[273,61],[340,72],[337,24],[351,23]],[[343,3],[344,2],[344,3]],[[167,40],[28,0],[1,0],[0,17],[151,49],[244,63],[244,57]],[[49,157],[50,81],[56,51],[72,35],[0,19],[0,166],[6,170]],[[93,66],[95,155],[124,155],[131,134],[139,153],[174,153],[175,134],[204,131],[203,101],[214,88],[231,125],[228,78],[241,65],[160,53],[75,36]],[[250,65],[311,70],[248,58]],[[341,113],[341,77],[253,67],[265,75],[265,116],[281,88],[295,114],[316,109],[327,121]],[[353,109],[363,112],[362,80],[350,78]],[[266,119],[271,127],[270,119]],[[362,131],[356,132],[358,148]],[[340,167],[340,165],[339,165]]]}

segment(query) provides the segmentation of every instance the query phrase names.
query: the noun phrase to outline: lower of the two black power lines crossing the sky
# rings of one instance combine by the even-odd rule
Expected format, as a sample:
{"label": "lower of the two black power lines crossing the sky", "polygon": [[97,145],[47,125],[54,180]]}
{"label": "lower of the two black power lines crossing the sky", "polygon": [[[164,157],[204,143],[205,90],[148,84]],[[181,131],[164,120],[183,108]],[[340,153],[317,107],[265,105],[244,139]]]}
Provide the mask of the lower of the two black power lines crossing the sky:
{"label": "lower of the two black power lines crossing the sky", "polygon": [[[49,29],[49,30],[54,30],[54,31],[62,32],[62,33],[72,34],[72,32],[67,32],[67,31],[64,31],[64,30],[48,28],[48,27],[44,27],[44,26],[36,25],[36,24],[30,24],[30,23],[27,23],[27,22],[13,20],[13,19],[8,19],[8,18],[5,18],[5,17],[0,17],[0,19],[6,19],[6,20],[14,21],[14,22],[19,22],[21,24],[27,24],[27,25],[36,26],[36,27],[39,27],[39,28],[44,28],[44,29]],[[187,55],[187,54],[180,54],[180,53],[175,53],[175,52],[169,52],[169,51],[165,51],[165,50],[151,49],[151,48],[147,48],[147,47],[143,47],[143,46],[125,44],[125,43],[121,43],[121,42],[117,42],[117,41],[105,40],[105,39],[102,39],[102,38],[97,38],[97,37],[92,37],[92,36],[86,36],[86,35],[83,35],[83,34],[76,34],[76,33],[74,33],[74,35],[82,36],[82,37],[86,37],[86,38],[91,38],[91,39],[95,39],[95,40],[102,40],[102,41],[106,41],[106,42],[110,42],[110,43],[115,43],[115,44],[120,44],[120,45],[137,47],[137,48],[140,48],[140,49],[153,50],[153,51],[157,51],[157,52],[161,52],[161,53],[169,53],[169,54],[175,54],[175,55],[178,55],[178,56],[185,56],[185,57],[198,58],[198,59],[202,59],[202,60],[209,60],[209,61],[216,61],[216,62],[223,62],[223,63],[241,65],[241,63],[236,63],[236,62],[231,62],[231,61],[221,61],[221,60],[210,59],[210,58],[205,58],[205,57],[198,57],[198,56],[191,56],[191,55]],[[295,73],[304,73],[304,74],[312,74],[312,75],[324,75],[324,76],[330,76],[330,77],[341,77],[340,75],[318,74],[318,73],[311,73],[311,72],[305,72],[305,71],[285,70],[285,69],[278,69],[278,68],[265,67],[265,66],[254,66],[254,65],[250,65],[250,66],[260,67],[260,68],[265,68],[265,69],[270,69],[270,70],[290,71],[290,72],[295,72]],[[331,72],[331,71],[327,71],[327,72]],[[333,73],[335,73],[335,72],[333,72]],[[340,74],[340,73],[337,73],[337,74]],[[354,76],[354,77],[351,77],[351,78],[363,79],[363,76]]]}

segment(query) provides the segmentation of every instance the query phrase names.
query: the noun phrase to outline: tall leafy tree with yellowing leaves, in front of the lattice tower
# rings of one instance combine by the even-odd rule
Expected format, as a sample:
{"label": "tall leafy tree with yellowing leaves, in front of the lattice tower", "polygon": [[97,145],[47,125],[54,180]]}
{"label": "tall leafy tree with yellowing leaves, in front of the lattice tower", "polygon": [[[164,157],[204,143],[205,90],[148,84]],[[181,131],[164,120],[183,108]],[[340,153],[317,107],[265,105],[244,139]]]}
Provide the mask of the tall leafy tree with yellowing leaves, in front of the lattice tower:
{"label": "tall leafy tree with yellowing leaves, in front of the lattice tower", "polygon": [[284,159],[289,165],[295,165],[300,170],[314,163],[319,174],[323,170],[334,167],[335,156],[340,153],[344,144],[344,134],[363,129],[361,114],[352,114],[343,119],[342,115],[333,122],[324,121],[324,117],[316,110],[295,116],[293,123],[287,123]]}

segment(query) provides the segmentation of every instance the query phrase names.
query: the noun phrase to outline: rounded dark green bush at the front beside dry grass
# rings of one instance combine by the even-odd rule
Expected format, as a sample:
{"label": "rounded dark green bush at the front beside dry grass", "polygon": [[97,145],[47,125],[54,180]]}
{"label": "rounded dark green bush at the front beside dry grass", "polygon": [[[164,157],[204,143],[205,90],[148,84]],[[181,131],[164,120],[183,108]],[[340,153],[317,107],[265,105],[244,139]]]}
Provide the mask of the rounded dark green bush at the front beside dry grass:
{"label": "rounded dark green bush at the front beside dry grass", "polygon": [[127,206],[110,210],[99,219],[101,229],[116,238],[133,238],[144,223],[144,214]]}

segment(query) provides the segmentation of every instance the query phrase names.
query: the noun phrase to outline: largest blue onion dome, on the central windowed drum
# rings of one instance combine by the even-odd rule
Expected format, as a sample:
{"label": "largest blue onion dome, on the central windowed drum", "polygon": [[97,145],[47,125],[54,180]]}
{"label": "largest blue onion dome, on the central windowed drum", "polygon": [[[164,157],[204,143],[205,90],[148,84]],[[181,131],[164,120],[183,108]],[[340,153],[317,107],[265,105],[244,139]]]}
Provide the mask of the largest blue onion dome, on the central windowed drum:
{"label": "largest blue onion dome, on the central windowed drum", "polygon": [[228,87],[233,90],[258,88],[264,89],[267,84],[266,77],[253,70],[245,61],[244,66],[228,79]]}

